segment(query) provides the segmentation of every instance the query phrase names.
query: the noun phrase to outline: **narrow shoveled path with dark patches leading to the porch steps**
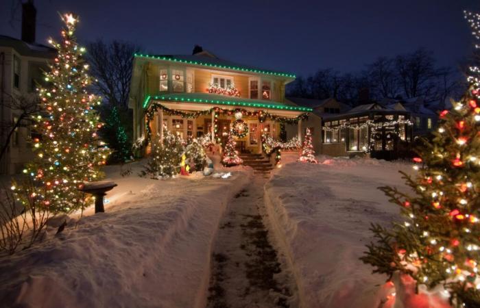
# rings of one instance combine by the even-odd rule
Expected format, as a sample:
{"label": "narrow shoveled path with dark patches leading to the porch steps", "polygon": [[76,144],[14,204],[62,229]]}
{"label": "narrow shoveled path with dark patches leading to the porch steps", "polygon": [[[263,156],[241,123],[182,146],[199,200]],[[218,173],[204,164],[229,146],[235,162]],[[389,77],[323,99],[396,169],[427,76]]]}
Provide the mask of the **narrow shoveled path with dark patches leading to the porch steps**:
{"label": "narrow shoveled path with dark patches leading to the porch steps", "polygon": [[264,224],[265,178],[228,204],[212,255],[207,307],[296,307],[296,287]]}

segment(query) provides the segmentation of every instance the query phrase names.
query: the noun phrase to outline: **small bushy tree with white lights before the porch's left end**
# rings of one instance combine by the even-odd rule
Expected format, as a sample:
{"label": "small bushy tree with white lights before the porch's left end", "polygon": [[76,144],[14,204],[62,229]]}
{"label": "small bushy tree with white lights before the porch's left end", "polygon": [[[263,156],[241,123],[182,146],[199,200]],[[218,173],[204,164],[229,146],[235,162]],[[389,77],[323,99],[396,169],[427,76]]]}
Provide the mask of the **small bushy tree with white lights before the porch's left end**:
{"label": "small bushy tree with white lights before the porch's left end", "polygon": [[152,179],[171,177],[180,172],[180,162],[184,147],[182,140],[167,129],[163,131],[163,143],[159,139],[152,142],[152,152],[141,175],[150,175]]}

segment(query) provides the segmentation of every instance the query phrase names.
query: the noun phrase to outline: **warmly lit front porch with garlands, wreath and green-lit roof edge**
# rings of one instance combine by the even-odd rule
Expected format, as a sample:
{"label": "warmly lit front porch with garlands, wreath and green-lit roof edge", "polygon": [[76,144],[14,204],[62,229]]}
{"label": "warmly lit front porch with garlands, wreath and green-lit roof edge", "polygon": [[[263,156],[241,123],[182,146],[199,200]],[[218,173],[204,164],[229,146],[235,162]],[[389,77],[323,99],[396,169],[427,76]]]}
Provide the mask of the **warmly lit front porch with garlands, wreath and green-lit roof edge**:
{"label": "warmly lit front porch with garlands, wreath and green-lit roof edge", "polygon": [[145,107],[147,139],[163,140],[163,129],[160,129],[160,123],[163,123],[165,129],[185,142],[208,135],[211,143],[221,151],[230,126],[235,123],[234,129],[239,127],[239,133],[235,136],[239,153],[262,153],[262,135],[276,140],[284,139],[287,137],[285,125],[296,126],[295,135],[302,136],[302,120],[307,119],[305,112],[309,111],[309,108],[282,103],[212,95],[193,98],[186,94],[153,97]]}

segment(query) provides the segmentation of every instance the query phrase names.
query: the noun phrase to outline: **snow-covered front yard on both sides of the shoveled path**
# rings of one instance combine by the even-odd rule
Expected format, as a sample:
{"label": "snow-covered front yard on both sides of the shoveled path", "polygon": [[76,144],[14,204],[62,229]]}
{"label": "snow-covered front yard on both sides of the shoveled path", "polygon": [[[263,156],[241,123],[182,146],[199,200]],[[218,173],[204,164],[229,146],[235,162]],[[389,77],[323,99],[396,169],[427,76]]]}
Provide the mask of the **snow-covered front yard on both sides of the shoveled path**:
{"label": "snow-covered front yard on both sides of the shoveled path", "polygon": [[[217,238],[226,205],[261,201],[262,190],[234,196],[248,185],[265,183],[264,210],[256,207],[291,280],[280,276],[278,283],[293,283],[291,307],[378,307],[378,285],[385,277],[370,274],[372,268],[358,258],[370,241],[370,222],[397,217],[398,209],[376,188],[403,187],[397,171],[410,170],[409,164],[324,158],[317,165],[286,164],[297,156],[283,157],[283,167],[266,183],[252,181],[248,167],[228,169],[232,177],[226,179],[192,175],[158,181],[137,177],[139,163],[128,177],[120,177],[118,167],[107,167],[108,178],[119,186],[107,195],[106,213],[93,215],[90,208],[76,228],[74,215],[60,235],[49,227],[47,238],[34,248],[3,257],[0,303],[205,307],[212,253],[228,250],[218,241],[232,239],[228,233]],[[249,213],[239,209],[239,217],[254,217]]]}

